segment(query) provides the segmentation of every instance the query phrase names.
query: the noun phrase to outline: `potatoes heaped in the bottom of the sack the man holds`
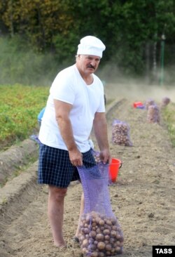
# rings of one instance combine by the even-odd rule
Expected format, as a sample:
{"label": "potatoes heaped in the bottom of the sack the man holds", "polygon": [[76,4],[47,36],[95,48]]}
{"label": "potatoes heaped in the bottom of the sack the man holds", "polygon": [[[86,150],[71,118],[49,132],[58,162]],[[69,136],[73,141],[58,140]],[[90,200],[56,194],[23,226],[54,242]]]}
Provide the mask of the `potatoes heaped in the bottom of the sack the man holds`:
{"label": "potatoes heaped in the bottom of the sack the man holds", "polygon": [[116,218],[92,211],[83,214],[79,230],[83,256],[105,257],[123,253],[123,232]]}

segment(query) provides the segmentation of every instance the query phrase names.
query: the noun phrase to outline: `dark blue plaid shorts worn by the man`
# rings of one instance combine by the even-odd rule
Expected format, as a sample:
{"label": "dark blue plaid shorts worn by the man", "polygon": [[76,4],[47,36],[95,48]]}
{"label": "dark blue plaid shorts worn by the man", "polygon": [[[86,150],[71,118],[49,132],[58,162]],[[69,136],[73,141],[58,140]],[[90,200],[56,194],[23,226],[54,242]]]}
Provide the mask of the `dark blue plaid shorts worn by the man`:
{"label": "dark blue plaid shorts worn by the man", "polygon": [[[95,164],[91,150],[83,153],[83,165],[86,168],[91,168]],[[70,162],[69,152],[40,144],[38,184],[68,187],[73,180],[80,180],[80,176],[76,166]]]}

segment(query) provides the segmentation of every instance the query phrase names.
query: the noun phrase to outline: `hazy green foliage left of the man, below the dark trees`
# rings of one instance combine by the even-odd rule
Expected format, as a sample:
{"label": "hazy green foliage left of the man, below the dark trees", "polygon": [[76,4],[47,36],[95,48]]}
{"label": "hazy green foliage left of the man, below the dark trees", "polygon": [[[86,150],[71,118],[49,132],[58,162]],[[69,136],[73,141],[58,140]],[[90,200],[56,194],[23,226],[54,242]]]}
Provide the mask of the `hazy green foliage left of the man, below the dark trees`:
{"label": "hazy green foliage left of the man, below the dark trees", "polygon": [[0,38],[1,84],[50,86],[58,65],[52,53],[35,53],[21,37]]}

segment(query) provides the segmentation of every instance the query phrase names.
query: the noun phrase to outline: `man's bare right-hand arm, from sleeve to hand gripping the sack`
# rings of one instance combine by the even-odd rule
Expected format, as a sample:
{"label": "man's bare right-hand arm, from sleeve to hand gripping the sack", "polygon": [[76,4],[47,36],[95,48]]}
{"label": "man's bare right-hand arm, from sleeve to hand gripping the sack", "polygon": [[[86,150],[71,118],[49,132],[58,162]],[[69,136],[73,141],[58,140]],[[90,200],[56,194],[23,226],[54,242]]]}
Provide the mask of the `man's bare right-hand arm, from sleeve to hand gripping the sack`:
{"label": "man's bare right-hand arm, from sleeve to hand gripping the sack", "polygon": [[108,129],[105,112],[96,112],[94,115],[94,136],[97,139],[100,150],[100,159],[102,162],[111,162],[109,151]]}

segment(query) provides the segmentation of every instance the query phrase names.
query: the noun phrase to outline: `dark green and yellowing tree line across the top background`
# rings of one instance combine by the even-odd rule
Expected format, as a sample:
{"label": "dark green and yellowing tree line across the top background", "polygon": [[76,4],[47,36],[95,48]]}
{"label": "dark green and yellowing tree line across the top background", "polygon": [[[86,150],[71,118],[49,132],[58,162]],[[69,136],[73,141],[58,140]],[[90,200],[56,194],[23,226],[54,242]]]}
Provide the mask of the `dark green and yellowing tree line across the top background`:
{"label": "dark green and yellowing tree line across the top background", "polygon": [[[1,0],[0,37],[20,37],[58,62],[71,62],[79,40],[94,35],[104,41],[104,60],[121,70],[143,74],[165,63],[174,65],[174,0]],[[26,43],[27,42],[27,43]]]}

